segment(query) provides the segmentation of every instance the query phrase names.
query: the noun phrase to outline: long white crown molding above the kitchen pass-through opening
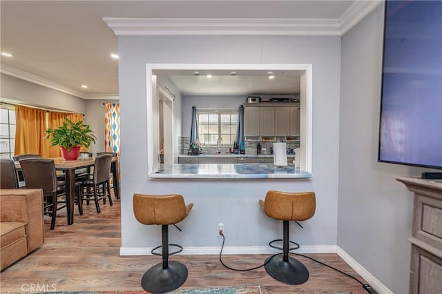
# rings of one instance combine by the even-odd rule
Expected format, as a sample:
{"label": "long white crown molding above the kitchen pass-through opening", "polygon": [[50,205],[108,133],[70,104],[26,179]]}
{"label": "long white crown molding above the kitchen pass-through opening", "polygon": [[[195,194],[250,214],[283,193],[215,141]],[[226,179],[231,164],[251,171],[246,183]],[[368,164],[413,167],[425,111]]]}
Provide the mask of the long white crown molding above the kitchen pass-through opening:
{"label": "long white crown molding above the kitchen pass-through opening", "polygon": [[104,17],[117,36],[339,36],[336,19],[140,19]]}

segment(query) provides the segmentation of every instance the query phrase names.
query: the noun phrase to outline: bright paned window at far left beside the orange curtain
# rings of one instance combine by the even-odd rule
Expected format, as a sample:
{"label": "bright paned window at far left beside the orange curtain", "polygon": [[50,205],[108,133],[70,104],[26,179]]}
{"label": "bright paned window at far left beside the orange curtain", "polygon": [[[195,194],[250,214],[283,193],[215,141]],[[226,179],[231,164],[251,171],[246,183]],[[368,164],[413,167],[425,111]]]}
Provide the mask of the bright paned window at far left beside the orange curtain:
{"label": "bright paned window at far left beside the orange curtain", "polygon": [[0,158],[12,159],[15,149],[15,110],[0,108]]}

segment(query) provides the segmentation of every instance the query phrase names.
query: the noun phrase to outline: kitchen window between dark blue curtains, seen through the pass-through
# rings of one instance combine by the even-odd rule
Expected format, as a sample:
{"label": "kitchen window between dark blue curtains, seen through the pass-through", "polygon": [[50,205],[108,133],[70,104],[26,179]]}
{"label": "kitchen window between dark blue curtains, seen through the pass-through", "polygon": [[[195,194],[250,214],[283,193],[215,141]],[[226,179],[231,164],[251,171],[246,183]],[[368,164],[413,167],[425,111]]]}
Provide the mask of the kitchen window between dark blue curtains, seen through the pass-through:
{"label": "kitchen window between dark blue curtains, seen through the pass-through", "polygon": [[198,135],[202,144],[216,145],[218,138],[222,138],[222,144],[233,144],[237,125],[237,110],[198,110]]}

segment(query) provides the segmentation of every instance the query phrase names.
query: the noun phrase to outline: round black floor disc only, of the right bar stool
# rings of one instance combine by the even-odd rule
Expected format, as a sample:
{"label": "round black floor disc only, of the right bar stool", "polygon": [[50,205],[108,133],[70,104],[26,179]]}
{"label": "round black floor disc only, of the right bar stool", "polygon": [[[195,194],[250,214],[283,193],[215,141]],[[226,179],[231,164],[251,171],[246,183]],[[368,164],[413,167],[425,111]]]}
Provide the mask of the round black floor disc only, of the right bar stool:
{"label": "round black floor disc only, of the right bar stool", "polygon": [[[267,263],[267,261],[271,260]],[[309,271],[302,262],[288,257],[284,261],[284,255],[267,257],[265,271],[278,282],[289,285],[299,285],[309,280]]]}

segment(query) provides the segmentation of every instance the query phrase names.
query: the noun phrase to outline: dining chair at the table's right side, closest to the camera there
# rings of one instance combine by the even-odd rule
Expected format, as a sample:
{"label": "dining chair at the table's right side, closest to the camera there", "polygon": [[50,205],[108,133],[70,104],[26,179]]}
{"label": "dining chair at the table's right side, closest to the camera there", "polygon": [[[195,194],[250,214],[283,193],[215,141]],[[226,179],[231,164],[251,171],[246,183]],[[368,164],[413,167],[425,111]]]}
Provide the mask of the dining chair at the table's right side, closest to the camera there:
{"label": "dining chair at the table's right side, closest to the camera there", "polygon": [[[109,177],[109,173],[111,173],[111,163],[112,155],[110,154],[95,157],[93,177],[88,177],[81,181],[80,206],[83,205],[83,200],[86,200],[86,202],[93,200],[97,213],[100,213],[99,200],[103,200],[103,204],[106,204],[106,197],[109,199],[109,204],[113,206]],[[86,191],[84,189],[86,189]]]}

